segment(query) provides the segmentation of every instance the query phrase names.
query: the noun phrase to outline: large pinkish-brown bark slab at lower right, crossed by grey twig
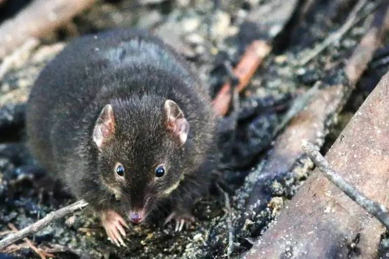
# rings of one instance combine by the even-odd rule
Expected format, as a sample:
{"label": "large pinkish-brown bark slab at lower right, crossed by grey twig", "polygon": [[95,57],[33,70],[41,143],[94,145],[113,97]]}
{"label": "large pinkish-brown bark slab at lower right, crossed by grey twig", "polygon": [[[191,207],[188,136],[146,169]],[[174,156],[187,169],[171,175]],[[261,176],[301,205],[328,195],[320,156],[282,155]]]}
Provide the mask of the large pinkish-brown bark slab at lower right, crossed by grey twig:
{"label": "large pinkish-brown bark slab at lower right, crossed by grey twig", "polygon": [[[370,199],[389,206],[389,73],[326,155]],[[357,172],[351,174],[351,172]],[[384,228],[315,170],[246,258],[373,258]],[[351,249],[356,240],[357,247]],[[353,251],[359,250],[359,254]]]}

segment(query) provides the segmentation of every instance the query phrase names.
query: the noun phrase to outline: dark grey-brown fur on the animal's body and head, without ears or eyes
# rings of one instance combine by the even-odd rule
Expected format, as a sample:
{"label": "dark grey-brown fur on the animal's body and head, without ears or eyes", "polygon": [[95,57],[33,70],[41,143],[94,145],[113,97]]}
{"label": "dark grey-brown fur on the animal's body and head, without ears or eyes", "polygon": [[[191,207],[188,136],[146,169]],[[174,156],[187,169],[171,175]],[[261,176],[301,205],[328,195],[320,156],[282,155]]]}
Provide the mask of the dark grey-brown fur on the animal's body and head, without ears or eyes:
{"label": "dark grey-brown fur on the animal's body and head, without ears or eyes", "polygon": [[[166,130],[167,99],[190,124],[184,145]],[[92,133],[106,104],[114,111],[115,132],[99,150]],[[27,111],[38,161],[95,210],[122,214],[142,206],[150,211],[166,200],[189,209],[207,190],[214,124],[208,90],[189,65],[160,39],[125,29],[72,41],[41,72]],[[154,181],[162,160],[167,172]],[[123,183],[115,180],[116,162],[126,169]],[[163,195],[178,180],[178,188]]]}

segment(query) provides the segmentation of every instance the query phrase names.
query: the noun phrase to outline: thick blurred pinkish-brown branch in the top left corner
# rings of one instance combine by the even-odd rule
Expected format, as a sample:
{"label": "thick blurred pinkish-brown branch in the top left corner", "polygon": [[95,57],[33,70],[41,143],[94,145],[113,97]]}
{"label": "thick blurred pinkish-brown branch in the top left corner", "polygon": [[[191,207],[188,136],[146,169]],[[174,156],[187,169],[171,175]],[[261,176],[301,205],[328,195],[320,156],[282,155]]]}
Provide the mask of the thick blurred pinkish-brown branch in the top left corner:
{"label": "thick blurred pinkish-brown branch in the top left corner", "polygon": [[29,38],[41,38],[76,14],[89,8],[96,0],[36,0],[16,17],[0,26],[0,59],[24,44]]}

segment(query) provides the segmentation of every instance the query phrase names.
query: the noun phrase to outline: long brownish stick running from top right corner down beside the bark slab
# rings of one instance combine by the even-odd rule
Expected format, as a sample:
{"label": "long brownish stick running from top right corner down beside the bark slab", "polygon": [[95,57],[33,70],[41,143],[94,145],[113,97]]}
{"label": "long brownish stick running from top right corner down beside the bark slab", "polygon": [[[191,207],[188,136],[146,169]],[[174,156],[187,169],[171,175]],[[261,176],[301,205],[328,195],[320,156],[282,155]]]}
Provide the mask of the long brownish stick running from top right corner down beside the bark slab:
{"label": "long brownish stick running from top right corner down beside the bark slab", "polygon": [[[373,53],[378,49],[383,36],[389,30],[388,16],[389,2],[382,2],[376,11],[369,30],[345,64],[344,70],[349,82],[318,90],[306,109],[299,112],[290,121],[290,118],[285,120],[285,122],[289,121],[289,124],[284,132],[277,137],[273,149],[269,151],[263,172],[292,170],[292,165],[304,154],[301,150],[301,139],[323,144],[325,132],[329,126],[328,123],[331,123],[328,118],[331,118],[342,108],[355,84],[372,60]],[[306,101],[302,103],[305,104]],[[295,112],[291,112],[291,114],[295,114]],[[283,128],[284,125],[282,124],[280,128]],[[256,204],[258,199],[261,200],[262,206],[266,205],[267,199],[261,191],[263,188],[266,188],[266,185],[262,181],[257,181],[256,187],[248,199],[248,208],[252,204]],[[243,220],[245,219],[243,218]]]}

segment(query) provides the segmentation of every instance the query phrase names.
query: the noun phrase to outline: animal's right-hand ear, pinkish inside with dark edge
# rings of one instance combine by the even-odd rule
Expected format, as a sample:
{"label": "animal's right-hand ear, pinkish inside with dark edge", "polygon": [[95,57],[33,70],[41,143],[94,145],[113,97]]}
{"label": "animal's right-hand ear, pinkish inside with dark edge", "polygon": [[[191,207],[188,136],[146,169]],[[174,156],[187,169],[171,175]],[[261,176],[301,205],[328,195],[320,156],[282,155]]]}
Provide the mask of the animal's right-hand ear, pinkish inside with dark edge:
{"label": "animal's right-hand ear, pinkish inside with dark edge", "polygon": [[165,101],[164,109],[168,131],[170,131],[181,144],[184,144],[189,132],[189,122],[185,119],[184,113],[172,100]]}

